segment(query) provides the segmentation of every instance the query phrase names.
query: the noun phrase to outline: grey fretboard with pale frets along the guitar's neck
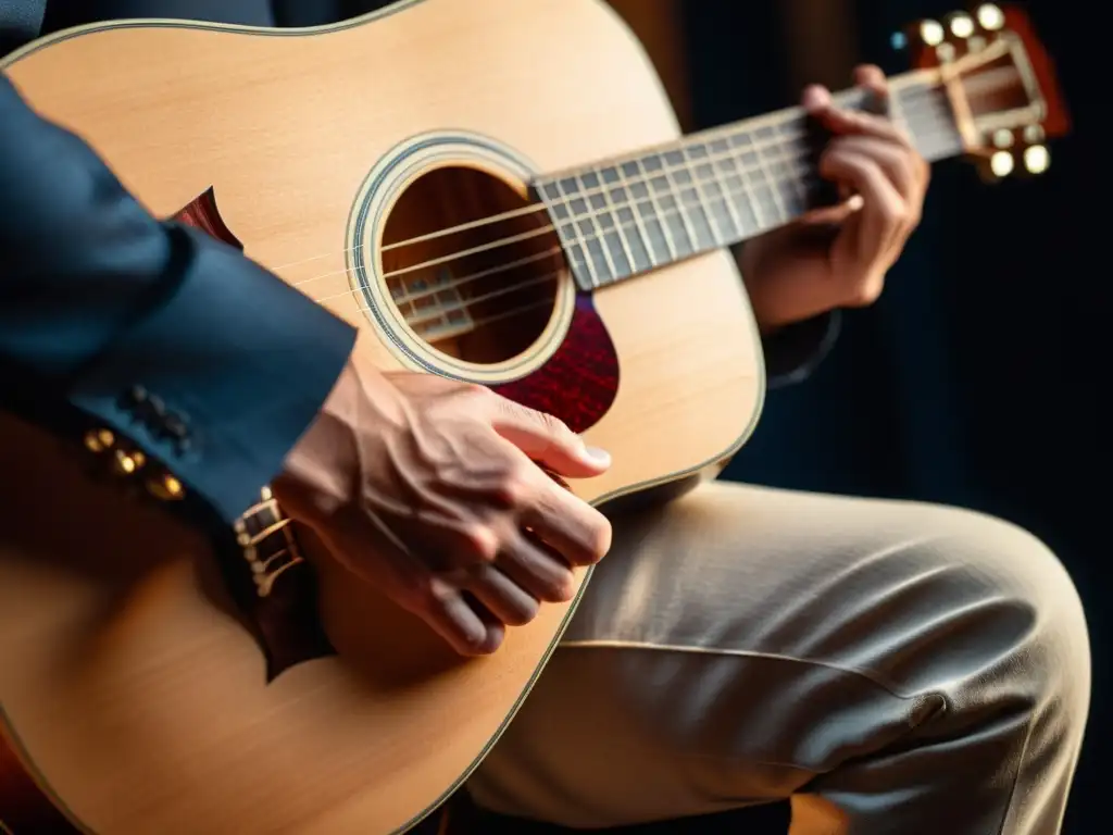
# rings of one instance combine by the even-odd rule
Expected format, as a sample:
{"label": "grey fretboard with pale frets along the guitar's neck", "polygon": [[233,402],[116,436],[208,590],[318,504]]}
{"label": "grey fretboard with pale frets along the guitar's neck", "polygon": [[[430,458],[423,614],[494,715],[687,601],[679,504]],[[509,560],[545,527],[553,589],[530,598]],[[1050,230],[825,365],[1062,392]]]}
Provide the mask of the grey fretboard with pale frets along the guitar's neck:
{"label": "grey fretboard with pale frets along the guitar's neck", "polygon": [[[888,115],[929,161],[962,153],[932,76],[892,79]],[[836,96],[865,109],[860,90]],[[582,289],[740,243],[830,203],[816,170],[823,137],[790,108],[534,183]]]}

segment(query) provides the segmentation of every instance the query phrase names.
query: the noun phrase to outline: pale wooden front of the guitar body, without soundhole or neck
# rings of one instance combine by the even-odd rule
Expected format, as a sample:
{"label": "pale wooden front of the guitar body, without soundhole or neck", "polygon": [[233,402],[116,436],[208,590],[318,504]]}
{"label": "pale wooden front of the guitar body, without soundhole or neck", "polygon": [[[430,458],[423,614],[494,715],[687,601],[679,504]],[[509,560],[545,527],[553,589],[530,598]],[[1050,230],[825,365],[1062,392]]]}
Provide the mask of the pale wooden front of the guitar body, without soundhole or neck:
{"label": "pale wooden front of the guitar body, without soundhole or neck", "polygon": [[[640,46],[594,0],[417,0],[284,32],[106,24],[3,71],[156,214],[211,188],[245,253],[359,326],[357,350],[383,369],[548,397],[568,418],[584,405],[568,394],[582,391],[577,363],[604,333],[615,374],[575,421],[614,466],[572,485],[589,501],[698,477],[756,423],[760,345],[725,252],[590,304],[563,274],[536,332],[485,363],[372,315],[392,292],[383,274],[400,269],[384,242],[429,222],[417,210],[429,202],[407,208],[406,189],[430,166],[479,173],[450,185],[509,206],[532,174],[677,136]],[[361,266],[358,250],[380,257]],[[591,324],[577,324],[587,308]],[[558,365],[560,350],[577,362]],[[498,654],[465,662],[314,557],[339,657],[268,684],[196,532],[87,482],[71,455],[8,418],[0,470],[20,485],[0,508],[3,725],[46,795],[99,835],[404,832],[477,765],[574,610],[546,607]]]}

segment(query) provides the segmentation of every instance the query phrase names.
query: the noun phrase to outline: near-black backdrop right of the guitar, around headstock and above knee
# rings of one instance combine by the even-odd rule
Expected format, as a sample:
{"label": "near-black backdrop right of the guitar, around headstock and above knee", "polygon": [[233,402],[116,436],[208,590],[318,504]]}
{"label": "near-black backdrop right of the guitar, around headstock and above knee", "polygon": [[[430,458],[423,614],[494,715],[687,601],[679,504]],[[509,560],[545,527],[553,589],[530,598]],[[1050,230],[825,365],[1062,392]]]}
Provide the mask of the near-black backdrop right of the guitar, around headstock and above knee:
{"label": "near-black backdrop right of the guitar, around headstock and above knee", "polygon": [[[858,52],[907,68],[890,36],[958,3],[857,0]],[[1072,2],[1025,4],[1056,61],[1073,119],[1036,179],[984,185],[962,160],[936,166],[923,225],[876,306],[846,314],[834,353],[804,385],[770,392],[726,478],[975,508],[1038,534],[1086,607],[1094,656],[1087,740],[1066,832],[1094,832],[1113,782],[1103,536],[1113,499],[1107,421],[1107,147],[1099,52]],[[682,0],[692,119],[717,125],[788,104],[785,7]],[[1095,38],[1096,40],[1096,38]],[[740,42],[741,41],[741,42]],[[739,67],[739,60],[742,66]],[[1107,414],[1103,409],[1101,415]],[[1101,425],[1100,425],[1101,424]],[[1085,823],[1084,823],[1085,822]],[[1089,823],[1089,826],[1085,824]]]}

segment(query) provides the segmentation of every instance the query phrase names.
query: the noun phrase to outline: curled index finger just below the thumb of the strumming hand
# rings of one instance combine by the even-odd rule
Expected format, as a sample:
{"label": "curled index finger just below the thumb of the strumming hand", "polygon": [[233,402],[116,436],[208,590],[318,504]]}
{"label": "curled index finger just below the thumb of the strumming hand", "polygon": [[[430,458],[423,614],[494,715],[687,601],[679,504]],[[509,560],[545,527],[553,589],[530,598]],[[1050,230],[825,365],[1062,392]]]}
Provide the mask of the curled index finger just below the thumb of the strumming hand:
{"label": "curled index finger just below the thumb of the strumming hand", "polygon": [[607,517],[552,482],[539,491],[520,521],[572,566],[593,566],[611,547]]}

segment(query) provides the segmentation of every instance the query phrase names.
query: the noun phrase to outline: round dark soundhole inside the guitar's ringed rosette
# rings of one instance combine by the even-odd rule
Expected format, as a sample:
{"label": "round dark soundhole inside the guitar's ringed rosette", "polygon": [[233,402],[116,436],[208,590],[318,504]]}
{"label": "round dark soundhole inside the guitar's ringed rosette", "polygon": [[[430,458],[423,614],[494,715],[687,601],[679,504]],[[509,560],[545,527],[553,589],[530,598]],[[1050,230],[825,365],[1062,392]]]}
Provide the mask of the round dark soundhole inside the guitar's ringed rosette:
{"label": "round dark soundhole inside the guitar's ringed rosette", "polygon": [[477,364],[526,351],[569,281],[542,207],[463,166],[435,168],[402,191],[381,259],[391,298],[417,337]]}

